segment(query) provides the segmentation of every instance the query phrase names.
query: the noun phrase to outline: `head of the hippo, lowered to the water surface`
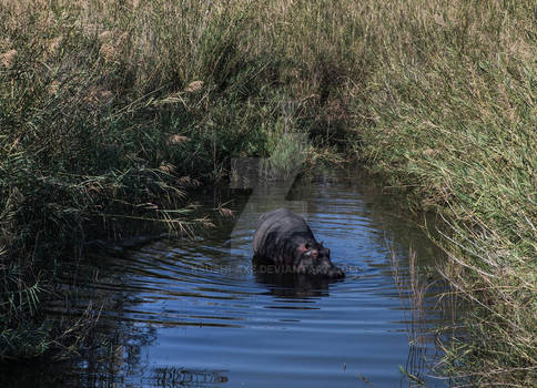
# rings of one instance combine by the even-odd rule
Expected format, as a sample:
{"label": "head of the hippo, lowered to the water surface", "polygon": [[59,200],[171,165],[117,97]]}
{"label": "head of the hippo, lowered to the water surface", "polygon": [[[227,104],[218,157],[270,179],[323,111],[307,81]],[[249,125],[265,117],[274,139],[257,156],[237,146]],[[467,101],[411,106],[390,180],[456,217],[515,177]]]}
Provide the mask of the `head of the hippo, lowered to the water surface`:
{"label": "head of the hippo, lowered to the water surface", "polygon": [[343,270],[332,264],[330,259],[330,249],[318,243],[304,243],[298,245],[295,252],[293,268],[297,274],[330,278],[345,276]]}

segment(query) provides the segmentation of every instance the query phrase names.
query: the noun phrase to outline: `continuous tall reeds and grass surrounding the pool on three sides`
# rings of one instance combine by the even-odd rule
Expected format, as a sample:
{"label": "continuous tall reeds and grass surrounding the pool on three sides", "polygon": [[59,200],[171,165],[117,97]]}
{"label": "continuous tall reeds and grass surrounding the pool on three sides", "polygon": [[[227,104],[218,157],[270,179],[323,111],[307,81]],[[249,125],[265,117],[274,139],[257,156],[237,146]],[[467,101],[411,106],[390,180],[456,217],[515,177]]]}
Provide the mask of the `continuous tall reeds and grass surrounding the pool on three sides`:
{"label": "continuous tall reeds and grass surrounding the pool on three sides", "polygon": [[124,217],[184,227],[189,185],[305,133],[311,161],[361,159],[445,217],[442,270],[475,306],[446,371],[535,382],[536,18],[530,0],[3,1],[0,357],[70,345],[40,306],[85,241]]}

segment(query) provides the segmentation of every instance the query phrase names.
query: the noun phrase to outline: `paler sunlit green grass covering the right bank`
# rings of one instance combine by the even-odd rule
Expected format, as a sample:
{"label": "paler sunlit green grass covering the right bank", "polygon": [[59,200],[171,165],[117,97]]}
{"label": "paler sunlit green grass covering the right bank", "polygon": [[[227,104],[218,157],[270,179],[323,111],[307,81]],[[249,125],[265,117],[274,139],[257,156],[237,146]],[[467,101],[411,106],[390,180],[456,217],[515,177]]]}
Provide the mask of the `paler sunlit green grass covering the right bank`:
{"label": "paler sunlit green grass covering the right bank", "polygon": [[[397,3],[397,2],[396,2]],[[419,4],[419,6],[418,6]],[[393,6],[396,7],[396,6]],[[477,385],[537,379],[537,67],[531,2],[398,3],[358,109],[365,159],[447,231],[442,266],[472,302],[447,349]],[[387,24],[387,25],[386,25]]]}

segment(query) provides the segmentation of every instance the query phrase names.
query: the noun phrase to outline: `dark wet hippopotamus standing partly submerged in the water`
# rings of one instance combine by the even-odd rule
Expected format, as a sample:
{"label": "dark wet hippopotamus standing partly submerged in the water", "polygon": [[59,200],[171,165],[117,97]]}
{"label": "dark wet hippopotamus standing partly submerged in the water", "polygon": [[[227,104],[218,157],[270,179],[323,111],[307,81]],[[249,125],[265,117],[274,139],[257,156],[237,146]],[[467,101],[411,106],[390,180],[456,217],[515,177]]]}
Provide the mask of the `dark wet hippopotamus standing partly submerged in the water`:
{"label": "dark wet hippopotamus standing partly submerged in the water", "polygon": [[254,234],[254,259],[293,274],[344,277],[332,264],[330,249],[317,243],[304,218],[286,208],[263,214]]}

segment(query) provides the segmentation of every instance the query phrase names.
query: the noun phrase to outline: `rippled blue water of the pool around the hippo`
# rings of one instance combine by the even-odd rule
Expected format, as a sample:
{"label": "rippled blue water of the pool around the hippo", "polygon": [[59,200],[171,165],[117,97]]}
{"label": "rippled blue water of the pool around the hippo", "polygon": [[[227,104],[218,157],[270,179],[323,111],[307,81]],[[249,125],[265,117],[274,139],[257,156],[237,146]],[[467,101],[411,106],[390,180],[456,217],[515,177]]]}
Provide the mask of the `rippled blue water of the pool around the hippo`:
{"label": "rippled blue water of the pool around the hippo", "polygon": [[[78,386],[446,386],[430,377],[433,333],[446,320],[435,308],[440,256],[396,197],[331,172],[214,200],[232,201],[237,218],[99,264],[92,293],[107,300],[114,360],[82,363]],[[306,218],[344,279],[253,273],[257,217],[281,206]]]}

